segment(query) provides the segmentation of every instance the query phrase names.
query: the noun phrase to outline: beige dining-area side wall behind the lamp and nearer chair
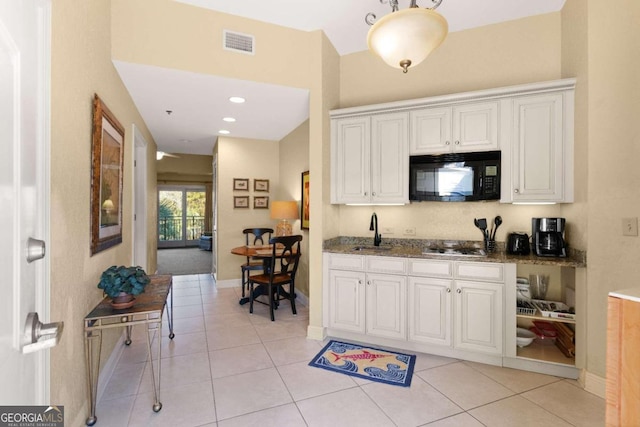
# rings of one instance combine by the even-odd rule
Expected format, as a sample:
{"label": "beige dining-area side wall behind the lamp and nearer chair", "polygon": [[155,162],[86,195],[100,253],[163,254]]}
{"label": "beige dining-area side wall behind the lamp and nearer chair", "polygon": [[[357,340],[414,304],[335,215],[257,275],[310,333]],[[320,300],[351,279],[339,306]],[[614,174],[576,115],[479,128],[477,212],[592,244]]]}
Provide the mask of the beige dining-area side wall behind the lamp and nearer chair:
{"label": "beige dining-area side wall behind the lamp and nearer chair", "polygon": [[[302,172],[308,170],[309,121],[306,120],[280,141],[280,186],[273,200],[296,200],[299,208],[302,203]],[[293,234],[302,235],[296,289],[309,296],[309,231],[302,230],[301,225],[301,220],[293,223]]]}

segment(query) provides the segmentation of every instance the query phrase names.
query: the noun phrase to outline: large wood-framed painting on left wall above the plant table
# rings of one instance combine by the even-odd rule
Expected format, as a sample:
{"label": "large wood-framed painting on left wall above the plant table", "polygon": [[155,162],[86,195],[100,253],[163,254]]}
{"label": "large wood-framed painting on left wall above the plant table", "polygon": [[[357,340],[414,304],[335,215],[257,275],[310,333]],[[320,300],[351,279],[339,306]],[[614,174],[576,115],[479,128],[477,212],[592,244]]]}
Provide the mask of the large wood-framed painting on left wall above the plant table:
{"label": "large wood-framed painting on left wall above the plant table", "polygon": [[91,142],[91,255],[122,242],[124,127],[93,97]]}

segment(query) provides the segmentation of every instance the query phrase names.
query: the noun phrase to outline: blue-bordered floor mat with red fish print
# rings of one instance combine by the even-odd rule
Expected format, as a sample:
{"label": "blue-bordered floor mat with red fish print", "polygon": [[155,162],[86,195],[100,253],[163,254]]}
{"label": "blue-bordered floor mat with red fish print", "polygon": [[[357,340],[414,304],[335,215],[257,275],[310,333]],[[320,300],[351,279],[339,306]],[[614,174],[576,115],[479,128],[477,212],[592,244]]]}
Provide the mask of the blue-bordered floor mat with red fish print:
{"label": "blue-bordered floor mat with red fish print", "polygon": [[415,355],[331,340],[309,366],[409,387],[415,362]]}

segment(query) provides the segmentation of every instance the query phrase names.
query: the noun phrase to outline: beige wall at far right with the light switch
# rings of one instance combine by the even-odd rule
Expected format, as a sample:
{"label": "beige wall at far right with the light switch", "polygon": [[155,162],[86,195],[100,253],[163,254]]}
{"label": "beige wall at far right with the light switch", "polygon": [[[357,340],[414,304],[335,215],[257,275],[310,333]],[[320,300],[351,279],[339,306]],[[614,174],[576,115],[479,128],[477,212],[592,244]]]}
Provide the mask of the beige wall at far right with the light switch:
{"label": "beige wall at far right with the light switch", "polygon": [[604,376],[607,293],[640,280],[640,239],[621,225],[640,210],[640,2],[587,3],[587,369]]}

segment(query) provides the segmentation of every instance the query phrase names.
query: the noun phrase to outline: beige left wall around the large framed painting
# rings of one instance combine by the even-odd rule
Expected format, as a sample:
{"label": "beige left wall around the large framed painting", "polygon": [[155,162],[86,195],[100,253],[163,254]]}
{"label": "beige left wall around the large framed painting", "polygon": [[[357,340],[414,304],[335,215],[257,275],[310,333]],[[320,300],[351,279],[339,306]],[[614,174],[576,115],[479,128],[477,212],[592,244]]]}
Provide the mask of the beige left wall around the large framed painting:
{"label": "beige left wall around the large framed painting", "polygon": [[[83,318],[102,298],[96,287],[109,266],[132,259],[132,123],[148,142],[148,172],[155,176],[155,143],[111,63],[108,1],[52,2],[51,55],[51,318],[63,321],[60,344],[51,350],[51,401],[65,406],[69,425],[88,415]],[[97,93],[125,128],[123,241],[90,255],[92,99]],[[148,208],[155,211],[155,180]],[[149,239],[155,241],[150,224]],[[155,269],[155,257],[149,258]],[[119,331],[105,334],[103,361]]]}

